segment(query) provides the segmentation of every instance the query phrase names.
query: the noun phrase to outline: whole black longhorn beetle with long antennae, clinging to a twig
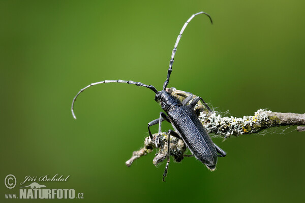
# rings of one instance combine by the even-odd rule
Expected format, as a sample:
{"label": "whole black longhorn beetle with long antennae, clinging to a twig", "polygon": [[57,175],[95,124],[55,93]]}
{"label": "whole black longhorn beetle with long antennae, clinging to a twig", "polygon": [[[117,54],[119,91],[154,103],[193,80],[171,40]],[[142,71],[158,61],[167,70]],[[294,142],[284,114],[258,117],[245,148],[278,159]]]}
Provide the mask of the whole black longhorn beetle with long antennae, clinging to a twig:
{"label": "whole black longhorn beetle with long antennae, clinging to a twig", "polygon": [[[85,89],[92,87],[94,85],[98,84],[103,84],[103,83],[127,83],[127,84],[133,84],[137,85],[140,87],[146,87],[150,90],[153,90],[156,95],[155,95],[155,100],[161,105],[161,108],[166,112],[160,112],[160,117],[158,119],[155,119],[151,122],[148,123],[148,132],[149,132],[149,137],[151,141],[153,141],[153,134],[151,134],[151,131],[149,129],[150,126],[158,124],[159,123],[159,134],[161,134],[161,122],[167,121],[170,122],[175,129],[169,130],[168,131],[168,148],[167,148],[167,162],[163,174],[163,181],[165,181],[165,177],[167,175],[168,171],[168,165],[169,165],[169,139],[170,136],[177,137],[179,139],[182,139],[187,147],[190,149],[192,154],[203,164],[207,166],[207,168],[211,171],[214,171],[216,168],[216,163],[217,163],[217,157],[221,156],[224,157],[226,156],[226,152],[224,152],[221,148],[219,148],[217,145],[215,145],[211,138],[209,137],[206,129],[203,127],[201,122],[199,121],[197,115],[194,112],[194,107],[198,103],[199,100],[202,101],[206,109],[211,113],[211,109],[207,106],[205,101],[197,96],[193,101],[193,94],[189,93],[188,97],[185,98],[182,102],[178,100],[176,97],[172,96],[169,92],[169,89],[167,88],[170,74],[172,72],[172,65],[174,62],[174,56],[177,50],[178,43],[181,39],[182,33],[184,32],[185,28],[189,24],[189,22],[197,15],[199,14],[205,14],[209,17],[210,22],[212,23],[212,19],[209,16],[209,14],[204,13],[204,12],[199,12],[196,14],[193,14],[188,21],[184,24],[182,27],[174,49],[172,51],[171,59],[169,61],[169,69],[167,71],[167,78],[163,84],[163,89],[161,91],[158,91],[153,85],[145,85],[141,82],[134,82],[134,81],[126,81],[126,80],[104,80],[101,82],[96,82],[92,83],[83,89],[81,89],[76,96],[73,99],[72,102],[72,115],[76,119],[76,116],[74,114],[74,103],[77,98],[77,96],[83,92]],[[189,105],[187,105],[191,101]],[[157,146],[157,142],[156,142]],[[218,154],[219,153],[219,154]]]}

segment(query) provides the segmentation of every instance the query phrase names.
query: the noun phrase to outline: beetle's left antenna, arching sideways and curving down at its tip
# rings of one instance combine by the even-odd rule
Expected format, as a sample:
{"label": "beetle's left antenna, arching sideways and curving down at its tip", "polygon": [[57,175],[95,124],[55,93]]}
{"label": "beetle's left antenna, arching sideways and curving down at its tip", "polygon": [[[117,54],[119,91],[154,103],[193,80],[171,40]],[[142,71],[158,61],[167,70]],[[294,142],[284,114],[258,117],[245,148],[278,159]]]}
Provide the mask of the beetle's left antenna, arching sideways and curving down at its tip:
{"label": "beetle's left antenna, arching sideways and curving down at its tip", "polygon": [[151,89],[153,90],[155,93],[158,92],[158,90],[153,86],[153,85],[145,85],[141,82],[134,82],[134,81],[131,81],[131,80],[104,80],[104,81],[101,81],[101,82],[96,82],[96,83],[91,83],[89,84],[88,86],[82,88],[77,94],[76,96],[74,97],[73,101],[72,101],[72,107],[71,107],[71,111],[72,111],[72,115],[73,117],[76,119],[76,116],[74,114],[74,103],[76,101],[76,98],[78,97],[78,95],[83,92],[85,89],[89,88],[89,87],[92,87],[94,85],[98,85],[98,84],[103,84],[103,83],[127,83],[127,84],[130,84],[130,85],[137,85],[137,86],[140,86],[140,87],[146,87],[148,89]]}

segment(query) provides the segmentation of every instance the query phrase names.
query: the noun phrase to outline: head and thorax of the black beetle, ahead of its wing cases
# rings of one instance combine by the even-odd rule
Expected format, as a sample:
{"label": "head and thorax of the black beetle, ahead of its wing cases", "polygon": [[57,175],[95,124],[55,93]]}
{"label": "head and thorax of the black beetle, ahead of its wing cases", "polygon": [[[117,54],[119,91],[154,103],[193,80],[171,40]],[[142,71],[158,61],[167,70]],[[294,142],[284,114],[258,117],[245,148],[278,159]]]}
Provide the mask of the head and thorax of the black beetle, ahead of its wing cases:
{"label": "head and thorax of the black beetle, ahead of its wing cases", "polygon": [[161,105],[165,112],[169,112],[171,108],[182,105],[181,101],[172,96],[169,92],[162,90],[156,93],[155,100]]}

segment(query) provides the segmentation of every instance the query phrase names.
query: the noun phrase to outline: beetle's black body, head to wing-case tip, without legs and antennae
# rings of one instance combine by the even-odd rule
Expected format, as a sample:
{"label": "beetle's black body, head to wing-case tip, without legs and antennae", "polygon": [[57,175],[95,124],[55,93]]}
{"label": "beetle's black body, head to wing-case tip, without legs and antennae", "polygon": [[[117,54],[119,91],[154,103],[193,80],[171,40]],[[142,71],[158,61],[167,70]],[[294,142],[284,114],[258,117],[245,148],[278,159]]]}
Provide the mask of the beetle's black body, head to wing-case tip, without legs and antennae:
{"label": "beetle's black body, head to wing-case tip, without legs and antennae", "polygon": [[[155,100],[161,104],[169,121],[192,154],[210,170],[215,170],[218,150],[194,112],[197,102],[184,106],[166,90],[157,92]],[[225,156],[225,153],[221,155]]]}

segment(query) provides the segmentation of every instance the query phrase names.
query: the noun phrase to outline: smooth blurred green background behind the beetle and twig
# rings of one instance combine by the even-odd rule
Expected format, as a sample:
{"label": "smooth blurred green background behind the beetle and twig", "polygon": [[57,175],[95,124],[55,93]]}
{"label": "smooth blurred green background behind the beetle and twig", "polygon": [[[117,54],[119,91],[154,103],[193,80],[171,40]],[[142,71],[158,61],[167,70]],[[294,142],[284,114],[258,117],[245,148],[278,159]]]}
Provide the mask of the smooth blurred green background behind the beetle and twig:
{"label": "smooth blurred green background behind the beetle and twig", "polygon": [[[1,176],[68,176],[73,202],[304,202],[305,134],[295,126],[214,139],[227,157],[210,172],[195,158],[128,160],[159,116],[161,89],[186,20],[169,87],[202,96],[218,111],[304,113],[304,1],[1,1]],[[163,125],[163,130],[169,129]],[[157,131],[157,127],[153,128]],[[276,133],[273,133],[276,132]],[[19,193],[1,186],[4,194]],[[29,202],[16,200],[17,202]],[[50,200],[62,202],[62,200]],[[37,200],[44,202],[44,200]]]}

